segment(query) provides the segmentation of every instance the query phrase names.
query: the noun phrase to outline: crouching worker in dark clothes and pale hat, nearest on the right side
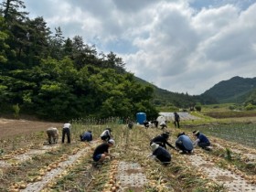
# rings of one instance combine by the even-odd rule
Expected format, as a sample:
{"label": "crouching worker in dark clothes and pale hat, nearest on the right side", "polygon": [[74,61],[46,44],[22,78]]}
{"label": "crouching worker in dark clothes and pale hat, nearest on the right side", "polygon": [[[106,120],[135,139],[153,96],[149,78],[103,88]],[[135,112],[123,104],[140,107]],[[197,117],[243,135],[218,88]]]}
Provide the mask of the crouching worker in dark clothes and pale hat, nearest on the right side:
{"label": "crouching worker in dark clothes and pale hat, nearest on the right side", "polygon": [[159,160],[163,165],[169,165],[171,162],[170,153],[159,144],[151,144],[152,155],[155,156],[157,160]]}

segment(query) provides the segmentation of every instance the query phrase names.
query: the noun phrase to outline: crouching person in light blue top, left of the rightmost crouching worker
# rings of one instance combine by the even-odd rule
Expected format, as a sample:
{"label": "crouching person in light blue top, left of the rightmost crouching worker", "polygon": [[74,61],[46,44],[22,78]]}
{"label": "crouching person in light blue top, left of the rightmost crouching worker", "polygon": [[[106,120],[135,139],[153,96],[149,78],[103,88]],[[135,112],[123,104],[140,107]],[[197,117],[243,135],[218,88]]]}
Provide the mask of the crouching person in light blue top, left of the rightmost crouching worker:
{"label": "crouching person in light blue top, left of the rightmost crouching worker", "polygon": [[183,132],[177,134],[176,148],[182,151],[180,154],[191,154],[194,146],[191,139]]}

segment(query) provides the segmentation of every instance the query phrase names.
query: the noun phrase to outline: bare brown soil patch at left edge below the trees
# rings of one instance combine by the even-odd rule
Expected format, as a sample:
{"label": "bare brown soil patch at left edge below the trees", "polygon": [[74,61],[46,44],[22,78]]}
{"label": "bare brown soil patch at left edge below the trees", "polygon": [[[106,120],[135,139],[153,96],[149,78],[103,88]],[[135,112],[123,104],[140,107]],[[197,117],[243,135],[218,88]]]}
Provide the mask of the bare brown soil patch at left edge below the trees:
{"label": "bare brown soil patch at left edge below the trees", "polygon": [[18,135],[20,133],[37,133],[45,131],[48,127],[61,127],[63,123],[50,123],[29,120],[12,120],[0,118],[0,139]]}

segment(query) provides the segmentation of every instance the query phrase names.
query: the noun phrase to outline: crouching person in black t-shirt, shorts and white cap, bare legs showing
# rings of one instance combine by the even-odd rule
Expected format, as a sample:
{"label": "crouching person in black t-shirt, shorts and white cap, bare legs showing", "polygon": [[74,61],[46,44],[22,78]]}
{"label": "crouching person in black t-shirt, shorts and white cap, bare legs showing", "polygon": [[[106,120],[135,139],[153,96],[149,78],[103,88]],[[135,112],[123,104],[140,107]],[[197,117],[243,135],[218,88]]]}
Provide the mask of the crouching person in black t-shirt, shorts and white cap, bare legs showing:
{"label": "crouching person in black t-shirt, shorts and white cap, bare legs showing", "polygon": [[103,143],[98,145],[94,153],[92,155],[92,159],[94,162],[103,162],[107,156],[112,157],[109,153],[109,148],[115,144],[114,140],[110,139],[107,143]]}

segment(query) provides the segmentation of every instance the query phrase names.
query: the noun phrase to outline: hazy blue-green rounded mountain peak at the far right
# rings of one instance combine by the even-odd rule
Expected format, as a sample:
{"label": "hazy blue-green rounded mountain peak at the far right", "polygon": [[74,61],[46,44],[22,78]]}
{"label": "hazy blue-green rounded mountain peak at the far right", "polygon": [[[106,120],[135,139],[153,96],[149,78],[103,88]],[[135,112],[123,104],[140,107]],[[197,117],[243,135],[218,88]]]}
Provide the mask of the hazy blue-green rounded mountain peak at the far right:
{"label": "hazy blue-green rounded mountain peak at the far right", "polygon": [[256,90],[256,78],[233,77],[222,80],[202,96],[210,96],[219,102],[245,102],[253,97]]}

